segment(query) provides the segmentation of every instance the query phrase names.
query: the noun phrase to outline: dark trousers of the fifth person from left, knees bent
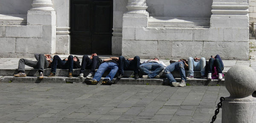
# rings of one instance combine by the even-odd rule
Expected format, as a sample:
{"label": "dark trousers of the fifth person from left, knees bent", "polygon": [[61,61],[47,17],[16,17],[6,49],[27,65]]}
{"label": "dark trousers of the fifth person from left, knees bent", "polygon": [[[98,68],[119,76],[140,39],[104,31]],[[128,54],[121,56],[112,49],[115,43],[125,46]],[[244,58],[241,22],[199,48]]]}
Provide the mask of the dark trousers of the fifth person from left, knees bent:
{"label": "dark trousers of the fifth person from left, knees bent", "polygon": [[134,74],[139,74],[140,69],[140,57],[135,56],[134,60],[126,60],[125,57],[120,56],[118,59],[119,62],[119,74],[124,74],[124,70],[133,70]]}

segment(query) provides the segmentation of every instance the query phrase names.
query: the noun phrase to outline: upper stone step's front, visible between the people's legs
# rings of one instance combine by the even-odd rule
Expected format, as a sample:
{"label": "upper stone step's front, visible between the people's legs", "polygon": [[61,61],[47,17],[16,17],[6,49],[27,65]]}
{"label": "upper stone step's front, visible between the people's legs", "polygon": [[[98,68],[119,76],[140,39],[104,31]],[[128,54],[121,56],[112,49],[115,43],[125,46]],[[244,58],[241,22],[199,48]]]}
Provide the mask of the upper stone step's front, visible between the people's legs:
{"label": "upper stone step's front, visible between the people's legs", "polygon": [[[0,69],[0,75],[2,76],[12,76],[14,74],[17,74],[17,69]],[[79,76],[79,72],[80,69],[73,69],[73,76]],[[84,76],[86,76],[87,74],[89,74],[90,70],[86,70]],[[25,69],[25,73],[27,74],[27,76],[37,76],[38,75],[38,69]],[[44,69],[44,76],[47,76],[51,73],[51,69]],[[225,71],[223,71],[224,74],[226,74]],[[103,77],[106,76],[108,74],[108,72],[105,72],[103,74]],[[179,72],[172,72],[174,77],[180,77]],[[116,77],[119,74],[116,74]],[[142,73],[139,74],[140,77],[142,77]],[[166,77],[164,72],[160,72],[160,77]],[[188,71],[186,71],[186,75],[188,75]],[[56,69],[56,76],[63,76],[63,77],[67,77],[68,76],[68,69]],[[134,72],[133,71],[125,71],[124,73],[124,77],[133,77],[134,76]],[[195,71],[194,72],[194,77],[195,78],[200,78],[201,77],[201,73],[199,71]]]}

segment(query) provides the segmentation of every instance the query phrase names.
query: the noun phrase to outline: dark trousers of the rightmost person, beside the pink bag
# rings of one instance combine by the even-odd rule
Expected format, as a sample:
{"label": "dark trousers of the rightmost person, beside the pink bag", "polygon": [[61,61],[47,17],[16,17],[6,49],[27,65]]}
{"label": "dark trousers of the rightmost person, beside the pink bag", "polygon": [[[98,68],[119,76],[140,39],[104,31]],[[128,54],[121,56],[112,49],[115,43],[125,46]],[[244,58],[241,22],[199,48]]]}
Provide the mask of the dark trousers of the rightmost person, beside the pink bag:
{"label": "dark trousers of the rightmost person, beside the pink bag", "polygon": [[222,73],[224,66],[222,66],[220,60],[218,58],[210,58],[208,62],[208,73],[212,73],[214,66],[216,66],[217,72]]}

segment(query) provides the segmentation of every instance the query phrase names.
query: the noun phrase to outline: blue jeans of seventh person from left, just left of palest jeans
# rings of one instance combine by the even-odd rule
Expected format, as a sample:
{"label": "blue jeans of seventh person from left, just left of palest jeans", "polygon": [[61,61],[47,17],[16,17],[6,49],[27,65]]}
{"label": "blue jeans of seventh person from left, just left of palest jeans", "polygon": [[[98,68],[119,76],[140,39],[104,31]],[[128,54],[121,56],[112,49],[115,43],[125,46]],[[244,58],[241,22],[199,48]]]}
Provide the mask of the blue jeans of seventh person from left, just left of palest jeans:
{"label": "blue jeans of seventh person from left, just left of palest jeans", "polygon": [[169,66],[166,67],[166,69],[164,69],[164,73],[166,74],[166,77],[170,80],[170,84],[176,82],[171,73],[173,71],[179,71],[181,80],[185,80],[186,82],[184,63],[182,61],[171,63]]}

